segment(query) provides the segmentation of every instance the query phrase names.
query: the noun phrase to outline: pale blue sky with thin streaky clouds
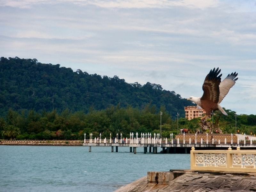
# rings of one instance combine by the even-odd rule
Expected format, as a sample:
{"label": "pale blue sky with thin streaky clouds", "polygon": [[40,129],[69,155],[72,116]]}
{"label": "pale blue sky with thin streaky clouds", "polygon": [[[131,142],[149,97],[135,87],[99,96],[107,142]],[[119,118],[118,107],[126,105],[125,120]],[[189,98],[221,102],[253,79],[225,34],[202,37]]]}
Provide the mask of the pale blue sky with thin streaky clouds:
{"label": "pale blue sky with thin streaky clouds", "polygon": [[161,84],[201,97],[219,67],[238,80],[220,103],[256,114],[256,1],[0,0],[0,57]]}

